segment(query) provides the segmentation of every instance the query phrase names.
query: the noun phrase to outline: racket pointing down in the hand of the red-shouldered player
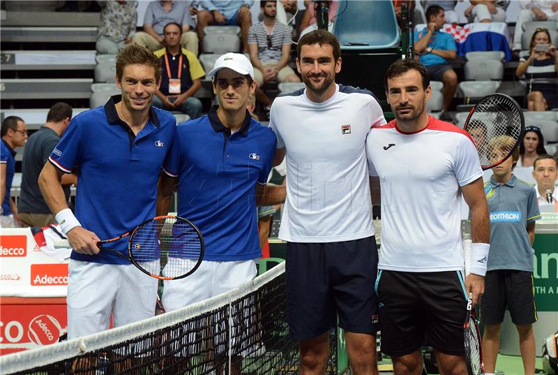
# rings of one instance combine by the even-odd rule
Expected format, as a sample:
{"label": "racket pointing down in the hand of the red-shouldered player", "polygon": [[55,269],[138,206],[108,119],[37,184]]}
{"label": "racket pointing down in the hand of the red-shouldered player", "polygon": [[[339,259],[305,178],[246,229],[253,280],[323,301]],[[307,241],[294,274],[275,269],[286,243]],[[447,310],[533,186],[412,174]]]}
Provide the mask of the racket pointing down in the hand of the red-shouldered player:
{"label": "racket pointing down in the hand of the red-shouldered player", "polygon": [[465,323],[463,323],[463,338],[465,339],[465,365],[467,366],[467,374],[484,374],[481,331],[478,329],[476,313],[473,309],[473,293],[469,293],[469,299],[467,300],[467,319]]}

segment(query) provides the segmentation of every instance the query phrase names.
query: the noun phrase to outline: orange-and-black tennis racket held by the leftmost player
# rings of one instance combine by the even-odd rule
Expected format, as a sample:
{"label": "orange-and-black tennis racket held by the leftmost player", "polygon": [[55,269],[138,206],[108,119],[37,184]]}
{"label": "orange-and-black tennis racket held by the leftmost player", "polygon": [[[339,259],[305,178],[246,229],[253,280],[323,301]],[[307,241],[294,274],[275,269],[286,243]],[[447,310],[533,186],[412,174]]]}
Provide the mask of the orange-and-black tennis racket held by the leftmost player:
{"label": "orange-and-black tennis racket held by the leftmost player", "polygon": [[[128,256],[107,247],[130,237]],[[54,247],[70,247],[68,240]],[[97,242],[97,247],[128,260],[145,274],[162,280],[182,279],[197,270],[204,258],[204,237],[197,226],[179,216],[157,216],[119,237]]]}

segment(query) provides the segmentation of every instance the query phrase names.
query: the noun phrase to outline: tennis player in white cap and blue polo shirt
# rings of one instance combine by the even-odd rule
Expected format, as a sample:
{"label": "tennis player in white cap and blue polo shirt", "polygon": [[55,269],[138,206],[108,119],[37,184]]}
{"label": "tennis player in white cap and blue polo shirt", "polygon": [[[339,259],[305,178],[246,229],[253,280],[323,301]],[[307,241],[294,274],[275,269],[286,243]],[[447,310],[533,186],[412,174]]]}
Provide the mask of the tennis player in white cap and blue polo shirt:
{"label": "tennis player in white cap and blue polo shirt", "polygon": [[284,186],[266,188],[276,135],[246,110],[248,96],[255,90],[252,64],[243,54],[227,53],[217,59],[208,76],[214,76],[219,105],[206,116],[179,124],[163,169],[158,214],[167,213],[178,183],[178,214],[193,221],[205,241],[204,262],[197,271],[165,282],[167,311],[255,277],[255,259],[262,256],[256,196],[265,205],[285,200]]}

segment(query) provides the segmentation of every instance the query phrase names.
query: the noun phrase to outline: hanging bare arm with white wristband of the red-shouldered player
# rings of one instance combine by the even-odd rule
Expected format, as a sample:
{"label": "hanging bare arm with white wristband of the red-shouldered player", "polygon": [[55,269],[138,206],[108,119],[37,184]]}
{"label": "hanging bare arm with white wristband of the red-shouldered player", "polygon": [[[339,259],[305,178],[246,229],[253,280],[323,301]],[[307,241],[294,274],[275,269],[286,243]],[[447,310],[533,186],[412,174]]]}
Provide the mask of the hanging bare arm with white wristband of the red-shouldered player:
{"label": "hanging bare arm with white wristband of the red-shouldered player", "polygon": [[484,276],[490,247],[490,219],[483,179],[479,177],[473,182],[461,186],[461,191],[471,212],[473,241],[471,273],[465,279],[465,289],[467,293],[473,293],[473,304],[477,304],[484,293]]}

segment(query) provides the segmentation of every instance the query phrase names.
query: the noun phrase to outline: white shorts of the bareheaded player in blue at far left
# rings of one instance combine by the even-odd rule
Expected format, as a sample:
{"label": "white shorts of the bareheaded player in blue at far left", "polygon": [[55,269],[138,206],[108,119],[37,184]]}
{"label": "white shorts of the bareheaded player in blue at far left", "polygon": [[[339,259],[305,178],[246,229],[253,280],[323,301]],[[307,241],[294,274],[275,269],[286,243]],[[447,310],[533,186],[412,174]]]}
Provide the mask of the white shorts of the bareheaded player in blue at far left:
{"label": "white shorts of the bareheaded player in blue at far left", "polygon": [[70,260],[68,267],[68,339],[151,318],[158,279],[134,265]]}

